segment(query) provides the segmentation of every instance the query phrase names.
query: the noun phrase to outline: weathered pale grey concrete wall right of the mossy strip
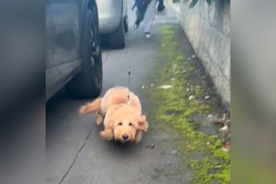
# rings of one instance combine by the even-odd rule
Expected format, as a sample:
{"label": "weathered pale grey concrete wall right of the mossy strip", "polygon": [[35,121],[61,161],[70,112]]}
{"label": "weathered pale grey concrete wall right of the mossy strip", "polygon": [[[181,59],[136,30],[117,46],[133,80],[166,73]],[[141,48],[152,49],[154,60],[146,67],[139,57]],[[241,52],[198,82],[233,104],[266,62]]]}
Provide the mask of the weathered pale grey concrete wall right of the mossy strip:
{"label": "weathered pale grey concrete wall right of the mossy strip", "polygon": [[229,108],[230,2],[218,0],[209,6],[206,1],[199,0],[189,9],[190,2],[182,0],[180,3],[180,24]]}

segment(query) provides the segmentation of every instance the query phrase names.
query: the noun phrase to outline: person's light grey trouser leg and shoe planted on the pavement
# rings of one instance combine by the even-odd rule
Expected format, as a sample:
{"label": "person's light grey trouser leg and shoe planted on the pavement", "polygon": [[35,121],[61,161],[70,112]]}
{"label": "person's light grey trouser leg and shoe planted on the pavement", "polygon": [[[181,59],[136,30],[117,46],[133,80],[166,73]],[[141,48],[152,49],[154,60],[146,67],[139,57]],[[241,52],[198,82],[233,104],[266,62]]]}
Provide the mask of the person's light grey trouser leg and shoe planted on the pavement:
{"label": "person's light grey trouser leg and shoe planted on the pavement", "polygon": [[152,23],[154,22],[155,4],[156,0],[152,0],[147,6],[147,10],[145,11],[143,31],[145,33],[146,38],[150,37],[150,28],[152,27]]}

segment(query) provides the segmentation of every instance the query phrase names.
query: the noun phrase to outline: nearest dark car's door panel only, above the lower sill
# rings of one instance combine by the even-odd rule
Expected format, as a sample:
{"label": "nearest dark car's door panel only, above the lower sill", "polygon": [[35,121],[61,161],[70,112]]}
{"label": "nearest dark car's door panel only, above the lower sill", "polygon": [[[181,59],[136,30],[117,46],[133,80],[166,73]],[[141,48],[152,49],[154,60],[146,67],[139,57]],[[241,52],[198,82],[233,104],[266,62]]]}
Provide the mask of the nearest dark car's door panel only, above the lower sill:
{"label": "nearest dark car's door panel only, above the lower sill", "polygon": [[54,0],[46,6],[47,68],[79,58],[79,11],[76,1]]}

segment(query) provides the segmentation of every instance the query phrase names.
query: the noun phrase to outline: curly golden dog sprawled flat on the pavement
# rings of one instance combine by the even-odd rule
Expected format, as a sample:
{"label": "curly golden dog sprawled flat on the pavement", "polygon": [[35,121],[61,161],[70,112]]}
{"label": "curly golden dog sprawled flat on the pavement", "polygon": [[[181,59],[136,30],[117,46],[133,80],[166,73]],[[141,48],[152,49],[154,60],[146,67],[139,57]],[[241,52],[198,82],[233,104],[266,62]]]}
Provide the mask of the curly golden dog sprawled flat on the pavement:
{"label": "curly golden dog sprawled flat on the pavement", "polygon": [[140,100],[126,87],[111,88],[104,97],[87,103],[79,112],[81,114],[96,112],[96,124],[104,122],[101,136],[105,140],[138,143],[148,128],[145,115],[141,115]]}

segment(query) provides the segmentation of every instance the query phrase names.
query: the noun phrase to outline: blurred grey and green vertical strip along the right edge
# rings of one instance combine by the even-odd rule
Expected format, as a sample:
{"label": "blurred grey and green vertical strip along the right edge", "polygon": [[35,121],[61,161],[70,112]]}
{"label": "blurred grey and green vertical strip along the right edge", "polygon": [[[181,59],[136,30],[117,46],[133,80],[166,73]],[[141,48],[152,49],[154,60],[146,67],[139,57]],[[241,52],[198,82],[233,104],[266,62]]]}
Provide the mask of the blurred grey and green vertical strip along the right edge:
{"label": "blurred grey and green vertical strip along the right edge", "polygon": [[232,183],[275,183],[275,1],[232,3]]}

